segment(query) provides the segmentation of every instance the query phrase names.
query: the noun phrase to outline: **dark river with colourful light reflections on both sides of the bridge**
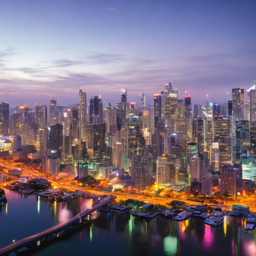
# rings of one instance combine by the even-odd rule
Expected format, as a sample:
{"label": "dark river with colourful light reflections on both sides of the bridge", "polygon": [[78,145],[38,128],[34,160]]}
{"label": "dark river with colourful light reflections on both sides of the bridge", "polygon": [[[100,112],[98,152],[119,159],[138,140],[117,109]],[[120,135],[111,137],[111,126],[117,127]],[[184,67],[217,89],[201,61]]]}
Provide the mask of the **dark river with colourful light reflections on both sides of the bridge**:
{"label": "dark river with colourful light reflections on both sides of the bridge", "polygon": [[[5,192],[8,203],[0,209],[0,247],[63,223],[92,205],[84,197],[49,202],[35,195]],[[177,222],[161,216],[145,220],[129,213],[96,211],[82,226],[67,229],[21,255],[251,256],[256,255],[256,230],[245,233],[244,218],[229,216],[213,228],[193,217]]]}

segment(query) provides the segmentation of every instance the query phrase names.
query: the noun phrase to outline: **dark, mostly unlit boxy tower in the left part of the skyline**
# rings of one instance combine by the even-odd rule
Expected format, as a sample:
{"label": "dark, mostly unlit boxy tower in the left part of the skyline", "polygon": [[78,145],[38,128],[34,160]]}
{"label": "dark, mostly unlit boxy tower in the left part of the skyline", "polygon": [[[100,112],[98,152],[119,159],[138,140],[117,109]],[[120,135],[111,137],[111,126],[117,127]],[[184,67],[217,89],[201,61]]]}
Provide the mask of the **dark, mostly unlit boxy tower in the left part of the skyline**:
{"label": "dark, mostly unlit boxy tower in the left part of the skyline", "polygon": [[63,146],[63,125],[54,124],[48,127],[49,139],[47,142],[47,148],[56,151],[58,158],[61,158],[62,146]]}

